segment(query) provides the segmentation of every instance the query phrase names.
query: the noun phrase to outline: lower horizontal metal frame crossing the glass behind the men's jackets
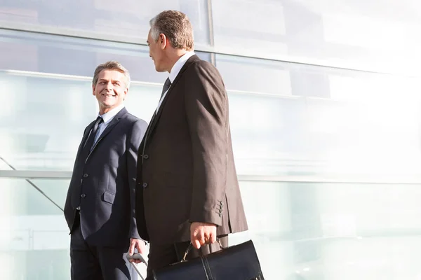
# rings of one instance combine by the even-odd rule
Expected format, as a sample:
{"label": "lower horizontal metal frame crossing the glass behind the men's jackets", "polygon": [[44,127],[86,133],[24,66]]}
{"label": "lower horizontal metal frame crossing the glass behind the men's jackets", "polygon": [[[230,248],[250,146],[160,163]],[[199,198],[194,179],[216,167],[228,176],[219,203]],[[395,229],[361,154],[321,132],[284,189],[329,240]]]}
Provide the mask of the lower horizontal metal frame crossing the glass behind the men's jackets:
{"label": "lower horizontal metal frame crossing the glass behind the men's jackets", "polygon": [[[37,171],[37,170],[0,170],[0,179],[71,179],[70,171]],[[276,182],[276,183],[344,183],[344,184],[393,184],[421,185],[421,177],[403,176],[266,176],[239,175],[239,181]]]}

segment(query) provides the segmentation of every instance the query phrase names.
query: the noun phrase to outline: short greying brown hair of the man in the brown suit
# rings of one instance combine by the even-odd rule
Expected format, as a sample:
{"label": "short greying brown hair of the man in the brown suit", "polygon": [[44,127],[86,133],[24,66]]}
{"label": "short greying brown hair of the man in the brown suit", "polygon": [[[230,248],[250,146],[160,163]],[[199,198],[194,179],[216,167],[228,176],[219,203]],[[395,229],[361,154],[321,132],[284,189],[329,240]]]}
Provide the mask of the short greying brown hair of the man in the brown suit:
{"label": "short greying brown hair of the man in the brown suit", "polygon": [[164,10],[149,21],[151,37],[158,41],[159,34],[165,34],[173,48],[192,50],[193,27],[185,13],[178,10]]}

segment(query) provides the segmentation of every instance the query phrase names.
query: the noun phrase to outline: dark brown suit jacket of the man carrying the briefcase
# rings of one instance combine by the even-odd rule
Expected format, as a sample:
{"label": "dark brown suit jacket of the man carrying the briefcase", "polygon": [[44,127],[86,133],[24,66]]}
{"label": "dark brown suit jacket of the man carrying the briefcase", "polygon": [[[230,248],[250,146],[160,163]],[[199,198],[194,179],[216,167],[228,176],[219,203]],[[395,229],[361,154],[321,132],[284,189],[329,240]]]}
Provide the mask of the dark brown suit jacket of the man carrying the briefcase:
{"label": "dark brown suit jacket of the man carrying the briefcase", "polygon": [[190,240],[190,223],[218,235],[247,230],[232,153],[225,85],[190,57],[149,124],[138,155],[136,218],[142,239]]}

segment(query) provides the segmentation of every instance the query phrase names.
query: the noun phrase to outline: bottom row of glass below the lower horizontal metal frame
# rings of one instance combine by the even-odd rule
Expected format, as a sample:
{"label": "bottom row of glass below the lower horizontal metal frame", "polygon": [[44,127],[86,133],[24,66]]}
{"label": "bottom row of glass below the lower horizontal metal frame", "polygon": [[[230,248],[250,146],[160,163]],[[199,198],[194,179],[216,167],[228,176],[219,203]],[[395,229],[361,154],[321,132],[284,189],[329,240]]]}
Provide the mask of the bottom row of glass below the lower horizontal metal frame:
{"label": "bottom row of glass below the lower horizontal metal frame", "polygon": [[[62,213],[27,181],[0,181],[2,278],[69,279]],[[63,196],[69,183],[32,181],[43,190],[58,186]],[[252,239],[267,279],[400,280],[421,274],[418,185],[240,185],[249,231],[232,235],[230,244]]]}

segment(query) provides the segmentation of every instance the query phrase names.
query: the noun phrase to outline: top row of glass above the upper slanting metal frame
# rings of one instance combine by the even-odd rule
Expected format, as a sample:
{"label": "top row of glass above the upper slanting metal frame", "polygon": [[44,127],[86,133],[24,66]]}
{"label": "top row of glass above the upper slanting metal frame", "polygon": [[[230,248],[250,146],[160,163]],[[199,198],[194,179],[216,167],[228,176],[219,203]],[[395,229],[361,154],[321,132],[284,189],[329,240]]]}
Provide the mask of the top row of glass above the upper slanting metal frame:
{"label": "top row of glass above the upper slanting metal frame", "polygon": [[3,0],[0,26],[145,43],[164,9],[189,15],[196,48],[420,73],[421,3],[411,0]]}

